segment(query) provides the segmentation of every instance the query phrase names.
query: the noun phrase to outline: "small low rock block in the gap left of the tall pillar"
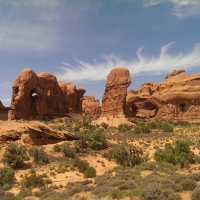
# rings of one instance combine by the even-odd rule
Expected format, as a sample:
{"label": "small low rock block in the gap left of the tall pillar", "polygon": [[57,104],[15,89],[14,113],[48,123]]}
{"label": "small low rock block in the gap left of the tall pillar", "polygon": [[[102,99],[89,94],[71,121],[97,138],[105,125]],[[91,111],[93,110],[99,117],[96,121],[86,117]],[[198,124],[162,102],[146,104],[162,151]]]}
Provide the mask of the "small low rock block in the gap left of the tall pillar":
{"label": "small low rock block in the gap left of the tall pillar", "polygon": [[86,116],[93,116],[99,118],[101,115],[101,106],[99,99],[95,99],[94,96],[84,96],[82,103],[83,114]]}

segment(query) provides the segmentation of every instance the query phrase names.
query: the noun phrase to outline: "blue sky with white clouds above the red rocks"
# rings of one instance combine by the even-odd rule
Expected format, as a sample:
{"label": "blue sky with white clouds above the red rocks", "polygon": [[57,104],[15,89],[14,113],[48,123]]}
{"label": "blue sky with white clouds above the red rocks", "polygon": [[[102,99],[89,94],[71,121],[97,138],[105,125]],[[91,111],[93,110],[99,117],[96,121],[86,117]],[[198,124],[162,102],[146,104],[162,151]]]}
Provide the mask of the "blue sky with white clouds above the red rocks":
{"label": "blue sky with white clouds above the red rocks", "polygon": [[0,100],[24,68],[50,72],[101,100],[110,70],[138,89],[173,69],[200,72],[200,0],[0,1]]}

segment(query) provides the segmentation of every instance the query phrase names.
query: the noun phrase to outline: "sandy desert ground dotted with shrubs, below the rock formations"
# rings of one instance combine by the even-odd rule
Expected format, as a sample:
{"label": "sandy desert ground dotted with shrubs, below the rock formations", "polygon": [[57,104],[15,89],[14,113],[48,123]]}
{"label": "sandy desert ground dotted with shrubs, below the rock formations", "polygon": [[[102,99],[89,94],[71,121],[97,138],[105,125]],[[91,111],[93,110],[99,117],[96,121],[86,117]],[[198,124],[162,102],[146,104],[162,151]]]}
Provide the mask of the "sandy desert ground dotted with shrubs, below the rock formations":
{"label": "sandy desert ground dotted with shrubs, below the rock formations", "polygon": [[0,199],[200,199],[200,123],[128,120],[111,127],[81,115],[53,118],[44,123],[79,139],[0,146]]}

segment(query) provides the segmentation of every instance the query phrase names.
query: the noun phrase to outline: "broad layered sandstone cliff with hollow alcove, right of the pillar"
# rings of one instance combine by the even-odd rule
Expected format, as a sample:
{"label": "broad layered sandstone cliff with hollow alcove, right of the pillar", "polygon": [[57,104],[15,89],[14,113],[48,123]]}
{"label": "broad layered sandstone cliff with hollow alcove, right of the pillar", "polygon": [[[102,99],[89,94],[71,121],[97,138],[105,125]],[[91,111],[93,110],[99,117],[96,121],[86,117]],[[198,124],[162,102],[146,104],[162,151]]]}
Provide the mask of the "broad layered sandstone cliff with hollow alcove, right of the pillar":
{"label": "broad layered sandstone cliff with hollow alcove, right of the pillar", "polygon": [[129,117],[170,120],[200,118],[200,74],[174,70],[161,83],[145,83],[129,91],[125,114]]}

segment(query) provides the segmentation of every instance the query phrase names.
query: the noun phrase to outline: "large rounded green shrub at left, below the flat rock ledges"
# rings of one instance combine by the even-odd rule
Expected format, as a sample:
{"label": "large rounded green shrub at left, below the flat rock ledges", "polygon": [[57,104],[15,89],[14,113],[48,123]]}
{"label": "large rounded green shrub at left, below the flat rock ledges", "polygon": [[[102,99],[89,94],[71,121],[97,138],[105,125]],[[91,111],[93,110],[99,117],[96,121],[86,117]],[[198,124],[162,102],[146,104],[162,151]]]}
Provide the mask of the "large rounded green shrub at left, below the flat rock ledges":
{"label": "large rounded green shrub at left, below the flat rock ledges", "polygon": [[1,161],[13,168],[21,168],[24,166],[24,161],[27,160],[29,157],[26,146],[12,142],[6,147]]}

